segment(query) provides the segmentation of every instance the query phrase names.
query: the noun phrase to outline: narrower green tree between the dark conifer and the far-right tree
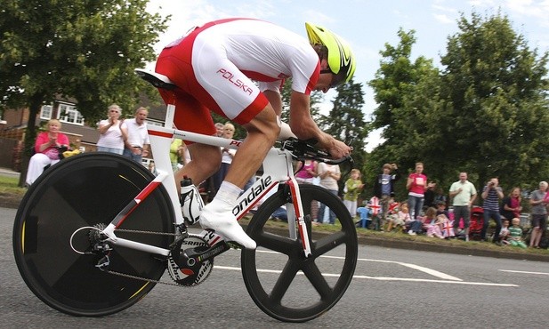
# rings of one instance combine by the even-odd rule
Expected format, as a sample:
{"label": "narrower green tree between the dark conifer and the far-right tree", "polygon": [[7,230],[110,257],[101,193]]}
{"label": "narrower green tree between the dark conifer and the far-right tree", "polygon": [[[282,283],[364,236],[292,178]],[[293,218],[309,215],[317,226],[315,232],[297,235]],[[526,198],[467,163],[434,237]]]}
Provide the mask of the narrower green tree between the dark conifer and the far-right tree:
{"label": "narrower green tree between the dark conifer and the far-right tree", "polygon": [[[372,151],[363,166],[366,181],[375,180],[384,163],[397,163],[406,174],[417,161],[424,161],[429,144],[435,143],[432,136],[438,135],[432,133],[437,127],[430,124],[430,119],[432,107],[439,103],[439,71],[433,67],[432,60],[423,56],[411,59],[416,43],[414,30],[405,32],[400,28],[398,36],[400,42],[396,46],[385,44],[380,52],[380,68],[368,83],[374,89],[378,104],[372,126],[383,128],[385,141]],[[428,134],[424,133],[427,129],[431,131]],[[424,139],[425,136],[429,138]],[[403,191],[404,181],[399,182],[397,189]]]}

